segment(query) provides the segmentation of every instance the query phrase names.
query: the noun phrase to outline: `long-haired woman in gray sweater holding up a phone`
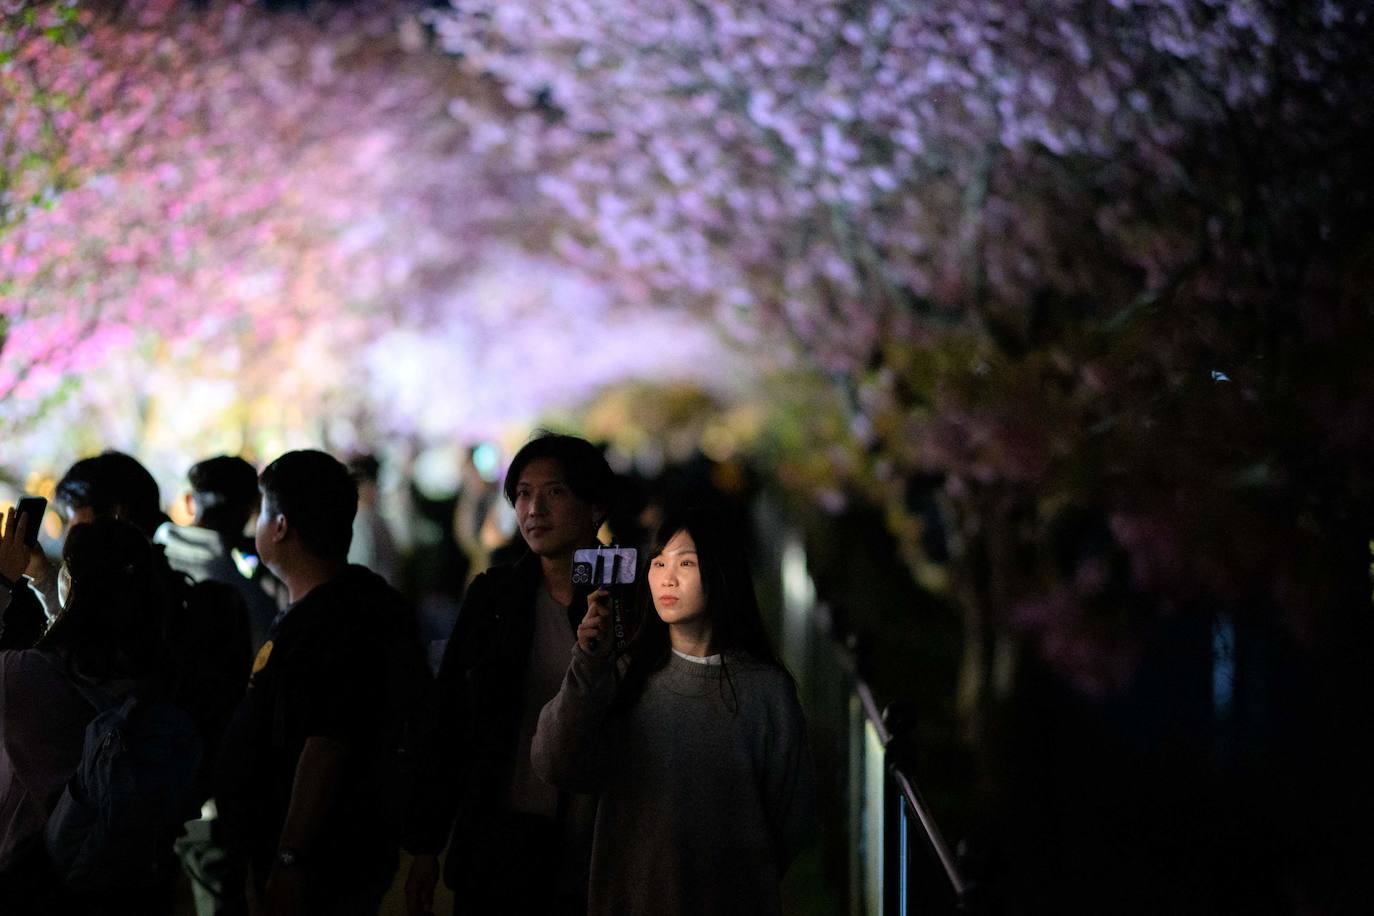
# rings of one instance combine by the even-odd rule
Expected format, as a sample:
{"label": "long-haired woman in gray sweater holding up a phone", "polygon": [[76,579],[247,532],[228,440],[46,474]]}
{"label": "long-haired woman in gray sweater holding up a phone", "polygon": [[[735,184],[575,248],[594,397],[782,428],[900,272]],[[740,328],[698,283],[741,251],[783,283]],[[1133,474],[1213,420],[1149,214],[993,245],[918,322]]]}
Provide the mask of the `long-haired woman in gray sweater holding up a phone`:
{"label": "long-haired woman in gray sweater holding up a phone", "polygon": [[671,516],[640,593],[644,622],[622,659],[606,592],[588,597],[532,748],[547,781],[600,794],[588,912],[780,913],[813,775],[743,548],[712,511]]}

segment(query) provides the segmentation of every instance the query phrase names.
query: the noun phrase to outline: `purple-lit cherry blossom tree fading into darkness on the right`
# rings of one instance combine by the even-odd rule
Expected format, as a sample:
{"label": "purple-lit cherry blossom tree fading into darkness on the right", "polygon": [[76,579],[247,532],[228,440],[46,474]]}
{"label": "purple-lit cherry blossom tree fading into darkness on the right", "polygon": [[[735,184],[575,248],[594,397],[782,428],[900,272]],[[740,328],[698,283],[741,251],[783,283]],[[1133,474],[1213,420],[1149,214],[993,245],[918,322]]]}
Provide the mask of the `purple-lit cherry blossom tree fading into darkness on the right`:
{"label": "purple-lit cherry blossom tree fading into darkness on the right", "polygon": [[[433,25],[537,115],[496,140],[556,166],[570,260],[830,379],[809,472],[885,505],[965,608],[974,732],[1024,634],[1103,694],[1169,608],[1274,608],[1311,645],[1367,604],[1366,4],[463,0]],[[1055,534],[1088,507],[1105,555]],[[1150,596],[1125,617],[1113,555]]]}

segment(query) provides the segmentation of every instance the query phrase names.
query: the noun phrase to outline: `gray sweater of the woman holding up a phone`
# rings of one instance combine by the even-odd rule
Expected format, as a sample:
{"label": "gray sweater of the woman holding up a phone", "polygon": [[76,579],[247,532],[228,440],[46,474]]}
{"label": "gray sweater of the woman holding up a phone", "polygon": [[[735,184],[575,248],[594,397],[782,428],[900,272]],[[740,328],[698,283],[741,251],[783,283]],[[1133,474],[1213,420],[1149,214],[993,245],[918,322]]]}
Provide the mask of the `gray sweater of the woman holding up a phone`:
{"label": "gray sweater of the woman holding up a phone", "polygon": [[609,661],[573,648],[539,717],[534,772],[600,792],[589,909],[611,915],[780,913],[778,884],[815,824],[807,726],[787,676],[746,655],[669,655],[628,711],[607,714]]}

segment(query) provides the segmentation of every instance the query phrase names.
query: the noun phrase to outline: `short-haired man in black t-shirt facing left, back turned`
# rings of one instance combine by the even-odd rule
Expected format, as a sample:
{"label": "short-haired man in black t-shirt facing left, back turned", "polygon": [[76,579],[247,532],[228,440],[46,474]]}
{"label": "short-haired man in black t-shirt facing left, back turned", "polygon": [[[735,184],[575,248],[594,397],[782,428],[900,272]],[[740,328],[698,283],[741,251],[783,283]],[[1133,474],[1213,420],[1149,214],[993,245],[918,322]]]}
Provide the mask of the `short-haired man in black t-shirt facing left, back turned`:
{"label": "short-haired man in black t-shirt facing left, back turned", "polygon": [[396,707],[387,647],[427,680],[414,617],[381,577],[348,566],[357,489],[323,452],[289,452],[260,479],[257,549],[291,604],[258,651],[217,769],[220,816],[268,913],[375,913],[397,861],[382,784]]}

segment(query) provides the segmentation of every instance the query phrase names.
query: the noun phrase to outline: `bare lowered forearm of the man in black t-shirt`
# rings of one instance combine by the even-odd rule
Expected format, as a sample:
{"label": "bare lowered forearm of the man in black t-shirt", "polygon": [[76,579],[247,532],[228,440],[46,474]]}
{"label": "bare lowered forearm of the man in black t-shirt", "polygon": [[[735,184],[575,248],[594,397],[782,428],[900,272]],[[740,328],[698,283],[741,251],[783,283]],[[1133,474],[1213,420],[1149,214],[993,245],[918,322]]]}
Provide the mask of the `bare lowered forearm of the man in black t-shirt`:
{"label": "bare lowered forearm of the man in black t-shirt", "polygon": [[[286,824],[278,842],[278,862],[267,879],[265,909],[268,916],[287,916],[305,912],[308,867],[320,824],[324,823],[338,798],[341,773],[348,759],[348,746],[333,737],[305,739],[301,757],[295,762],[291,801],[286,809]],[[283,864],[284,858],[298,858]]]}

